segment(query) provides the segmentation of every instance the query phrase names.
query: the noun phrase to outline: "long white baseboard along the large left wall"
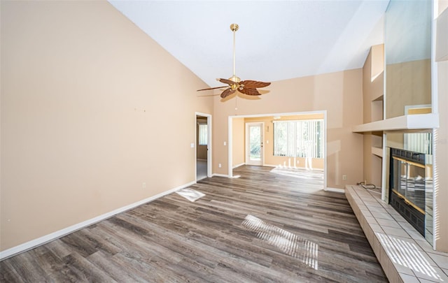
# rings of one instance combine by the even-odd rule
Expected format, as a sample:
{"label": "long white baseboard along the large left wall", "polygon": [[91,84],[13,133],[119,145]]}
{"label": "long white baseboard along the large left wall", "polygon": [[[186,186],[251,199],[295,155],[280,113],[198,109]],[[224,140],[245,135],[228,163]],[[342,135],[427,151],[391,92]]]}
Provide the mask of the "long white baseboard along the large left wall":
{"label": "long white baseboard along the large left wall", "polygon": [[[227,176],[225,176],[227,177]],[[107,219],[109,217],[113,217],[113,215],[118,215],[118,213],[124,212],[126,210],[131,210],[132,208],[137,208],[139,205],[143,205],[144,203],[149,203],[151,201],[155,201],[158,198],[161,198],[162,196],[166,196],[167,194],[172,194],[174,191],[177,191],[179,189],[183,189],[185,187],[190,187],[192,184],[195,184],[196,182],[189,182],[188,184],[183,184],[179,187],[176,187],[174,189],[169,189],[168,191],[164,191],[160,194],[156,194],[155,196],[151,196],[149,198],[145,198],[141,201],[137,201],[137,203],[131,203],[130,205],[123,206],[123,208],[117,208],[116,210],[112,210],[111,212],[107,212],[104,215],[99,215],[97,217],[94,217],[92,219],[88,219],[84,222],[80,222],[78,224],[74,224],[72,226],[69,226],[67,228],[63,228],[59,231],[50,233],[48,235],[44,235],[40,238],[30,240],[29,242],[25,242],[21,245],[11,247],[10,249],[5,249],[3,252],[0,252],[0,261],[3,259],[7,259],[10,256],[14,256],[15,254],[19,254],[20,252],[25,252],[29,249],[34,249],[34,247],[38,247],[40,245],[43,245],[47,242],[50,242],[52,240],[56,240],[57,238],[61,238],[64,235],[67,235],[69,233],[73,233],[75,231],[78,231],[81,228],[85,228],[87,226],[90,226],[92,224],[95,224],[97,222],[100,222],[104,219]]]}

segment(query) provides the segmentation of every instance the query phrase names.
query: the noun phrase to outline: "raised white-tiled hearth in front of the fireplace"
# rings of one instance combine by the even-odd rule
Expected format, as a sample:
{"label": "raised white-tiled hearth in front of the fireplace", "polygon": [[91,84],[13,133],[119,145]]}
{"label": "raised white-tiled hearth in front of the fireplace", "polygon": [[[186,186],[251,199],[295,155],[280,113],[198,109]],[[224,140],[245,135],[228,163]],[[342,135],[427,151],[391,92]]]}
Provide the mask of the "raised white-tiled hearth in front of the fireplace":
{"label": "raised white-tiled hearth in front of the fireplace", "polygon": [[434,251],[379,192],[347,185],[345,195],[390,282],[448,282],[448,254]]}

